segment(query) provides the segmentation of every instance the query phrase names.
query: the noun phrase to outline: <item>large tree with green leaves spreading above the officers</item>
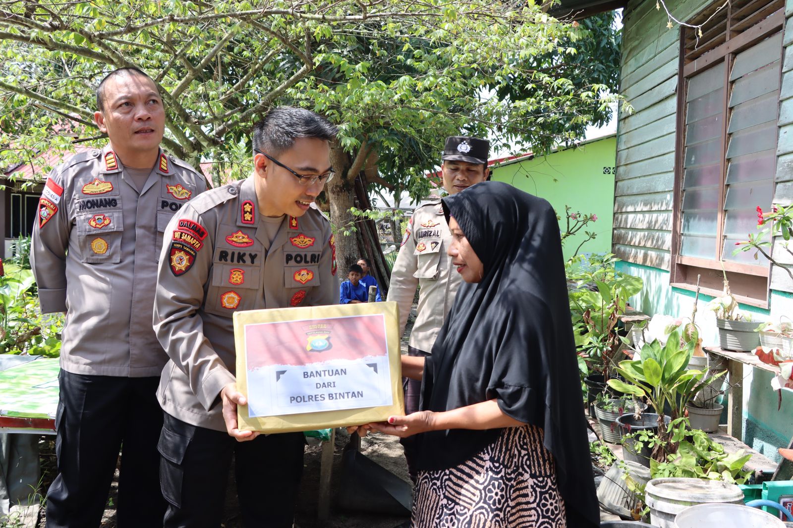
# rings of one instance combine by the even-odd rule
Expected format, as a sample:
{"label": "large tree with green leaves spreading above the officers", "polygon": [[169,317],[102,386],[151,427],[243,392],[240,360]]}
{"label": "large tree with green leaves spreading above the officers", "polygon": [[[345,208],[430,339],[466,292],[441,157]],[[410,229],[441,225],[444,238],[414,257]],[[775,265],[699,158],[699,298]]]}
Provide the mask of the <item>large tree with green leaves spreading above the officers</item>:
{"label": "large tree with green leaves spreading above the officers", "polygon": [[[340,134],[327,201],[344,229],[362,170],[381,164],[372,184],[418,196],[444,136],[494,132],[538,149],[580,136],[614,97],[575,48],[597,49],[595,33],[534,2],[11,0],[0,5],[0,165],[102,140],[93,90],[134,65],[167,106],[164,146],[212,163],[216,183],[249,174],[249,128],[274,105],[328,116]],[[337,239],[344,266],[361,251]]]}

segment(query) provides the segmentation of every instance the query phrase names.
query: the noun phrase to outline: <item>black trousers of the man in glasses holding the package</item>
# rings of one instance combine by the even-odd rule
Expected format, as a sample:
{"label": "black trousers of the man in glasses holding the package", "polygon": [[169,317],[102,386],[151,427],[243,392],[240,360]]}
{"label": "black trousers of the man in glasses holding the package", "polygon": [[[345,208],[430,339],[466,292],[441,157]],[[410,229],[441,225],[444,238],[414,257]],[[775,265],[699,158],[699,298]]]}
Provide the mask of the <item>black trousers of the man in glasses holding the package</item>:
{"label": "black trousers of the man in glasses holding the package", "polygon": [[169,503],[165,528],[220,526],[232,454],[244,525],[291,528],[303,475],[303,433],[237,442],[225,431],[164,414],[158,449],[160,485]]}

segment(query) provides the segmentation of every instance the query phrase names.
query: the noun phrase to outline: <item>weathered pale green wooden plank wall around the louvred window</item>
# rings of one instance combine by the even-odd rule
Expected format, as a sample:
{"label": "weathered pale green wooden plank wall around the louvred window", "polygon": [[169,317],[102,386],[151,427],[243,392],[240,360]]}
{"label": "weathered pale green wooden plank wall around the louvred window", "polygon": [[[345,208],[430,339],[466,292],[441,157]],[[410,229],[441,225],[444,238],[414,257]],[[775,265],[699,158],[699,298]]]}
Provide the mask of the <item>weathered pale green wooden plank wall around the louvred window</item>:
{"label": "weathered pale green wooden plank wall around the louvred window", "polygon": [[[711,0],[667,0],[672,16],[686,21]],[[793,0],[787,0],[783,34],[783,78],[780,90],[779,137],[774,203],[793,202]],[[672,189],[674,185],[676,88],[680,53],[679,28],[668,29],[664,10],[656,2],[631,0],[624,12],[623,59],[620,93],[634,113],[621,113],[617,128],[617,175],[612,251],[623,262],[619,270],[642,277],[645,287],[630,300],[650,315],[690,316],[694,293],[670,286],[672,250]],[[781,249],[781,248],[780,248]],[[774,251],[781,262],[793,262],[784,251]],[[772,270],[768,309],[742,305],[755,320],[793,318],[793,281],[776,267]],[[707,310],[711,297],[700,295],[697,323],[704,344],[718,341],[715,318]],[[742,440],[779,460],[776,447],[793,437],[793,391],[782,390],[781,410],[769,385],[771,374],[744,369],[744,423]],[[751,396],[751,397],[750,397]]]}

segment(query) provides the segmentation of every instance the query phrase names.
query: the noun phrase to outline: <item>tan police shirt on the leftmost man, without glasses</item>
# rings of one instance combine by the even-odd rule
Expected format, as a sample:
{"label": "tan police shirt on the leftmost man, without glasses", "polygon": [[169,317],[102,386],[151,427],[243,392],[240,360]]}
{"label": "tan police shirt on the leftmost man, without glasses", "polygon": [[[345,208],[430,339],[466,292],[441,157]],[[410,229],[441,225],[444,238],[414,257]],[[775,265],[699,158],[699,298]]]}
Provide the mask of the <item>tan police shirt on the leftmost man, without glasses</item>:
{"label": "tan police shirt on the leftmost man, without glasses", "polygon": [[105,147],[50,174],[33,229],[41,311],[66,312],[61,368],[159,376],[167,356],[151,328],[154,282],[170,217],[206,189],[187,163],[160,155],[139,192]]}

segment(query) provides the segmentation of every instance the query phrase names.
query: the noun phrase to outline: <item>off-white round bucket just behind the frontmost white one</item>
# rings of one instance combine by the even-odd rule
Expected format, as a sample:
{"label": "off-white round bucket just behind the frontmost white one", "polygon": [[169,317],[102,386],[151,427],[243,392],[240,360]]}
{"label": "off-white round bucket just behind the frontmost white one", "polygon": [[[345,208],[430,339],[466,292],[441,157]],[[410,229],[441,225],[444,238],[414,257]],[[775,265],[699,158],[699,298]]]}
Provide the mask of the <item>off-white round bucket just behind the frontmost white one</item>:
{"label": "off-white round bucket just behind the frontmost white one", "polygon": [[675,517],[690,506],[703,503],[743,504],[744,495],[736,484],[717,480],[665,478],[650,480],[645,498],[649,506],[650,524],[660,528],[676,528]]}

